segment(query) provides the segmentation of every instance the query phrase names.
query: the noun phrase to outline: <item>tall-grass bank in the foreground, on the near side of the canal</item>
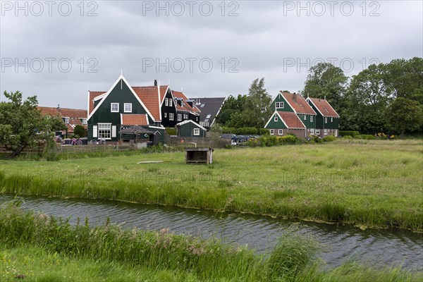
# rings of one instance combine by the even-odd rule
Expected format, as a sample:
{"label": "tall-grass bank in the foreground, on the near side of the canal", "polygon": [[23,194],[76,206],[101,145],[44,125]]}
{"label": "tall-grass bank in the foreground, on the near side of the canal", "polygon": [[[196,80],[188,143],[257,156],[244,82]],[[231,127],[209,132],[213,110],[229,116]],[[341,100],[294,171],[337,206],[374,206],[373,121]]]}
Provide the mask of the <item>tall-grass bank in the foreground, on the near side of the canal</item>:
{"label": "tall-grass bank in the foreground, on the near side of the canal", "polygon": [[0,208],[1,281],[421,281],[400,269],[345,264],[319,271],[312,238],[295,228],[264,258],[252,250],[152,231],[91,227]]}

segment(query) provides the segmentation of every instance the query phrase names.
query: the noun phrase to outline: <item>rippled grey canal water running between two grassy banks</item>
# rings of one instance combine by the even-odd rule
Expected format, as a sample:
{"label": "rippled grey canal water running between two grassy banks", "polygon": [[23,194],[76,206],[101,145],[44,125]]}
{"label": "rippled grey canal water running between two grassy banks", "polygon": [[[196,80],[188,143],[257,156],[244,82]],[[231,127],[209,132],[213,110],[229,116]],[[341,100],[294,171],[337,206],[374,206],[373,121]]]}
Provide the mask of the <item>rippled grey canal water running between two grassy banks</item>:
{"label": "rippled grey canal water running between two grassy banks", "polygon": [[[0,195],[0,202],[13,197]],[[90,223],[111,222],[124,228],[160,230],[203,237],[214,236],[227,243],[248,245],[259,253],[273,250],[277,238],[292,223],[301,223],[300,233],[313,235],[324,245],[321,257],[327,267],[358,260],[375,267],[396,266],[423,271],[423,234],[403,230],[361,230],[353,226],[272,219],[245,214],[214,212],[130,204],[99,200],[61,200],[47,197],[23,197],[23,209],[67,218],[71,223],[88,216]]]}

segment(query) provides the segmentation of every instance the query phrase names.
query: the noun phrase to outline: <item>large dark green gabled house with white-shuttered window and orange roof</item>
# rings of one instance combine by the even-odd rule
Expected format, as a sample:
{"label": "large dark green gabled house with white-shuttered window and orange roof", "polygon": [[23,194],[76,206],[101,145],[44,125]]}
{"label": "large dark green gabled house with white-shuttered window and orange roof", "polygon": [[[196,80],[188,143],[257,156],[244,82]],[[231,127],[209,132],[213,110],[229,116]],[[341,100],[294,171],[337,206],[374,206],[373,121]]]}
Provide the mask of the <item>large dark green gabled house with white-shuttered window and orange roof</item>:
{"label": "large dark green gabled house with white-shuttered window and orange roof", "polygon": [[107,92],[89,91],[88,140],[101,138],[118,141],[120,130],[130,125],[140,125],[159,135],[159,142],[164,142],[160,99],[157,86],[155,89],[131,87],[123,75],[119,76]]}

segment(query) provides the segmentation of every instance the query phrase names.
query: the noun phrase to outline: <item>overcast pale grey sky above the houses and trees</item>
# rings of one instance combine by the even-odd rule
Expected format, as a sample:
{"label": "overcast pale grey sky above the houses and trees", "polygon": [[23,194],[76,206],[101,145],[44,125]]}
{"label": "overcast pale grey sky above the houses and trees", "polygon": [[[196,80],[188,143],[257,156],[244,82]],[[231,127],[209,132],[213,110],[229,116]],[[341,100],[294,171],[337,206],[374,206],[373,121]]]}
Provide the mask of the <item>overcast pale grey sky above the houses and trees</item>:
{"label": "overcast pale grey sky above the houses and trees", "polygon": [[423,57],[423,1],[0,1],[0,97],[86,109],[121,73],[188,97],[304,88],[326,61],[357,75]]}

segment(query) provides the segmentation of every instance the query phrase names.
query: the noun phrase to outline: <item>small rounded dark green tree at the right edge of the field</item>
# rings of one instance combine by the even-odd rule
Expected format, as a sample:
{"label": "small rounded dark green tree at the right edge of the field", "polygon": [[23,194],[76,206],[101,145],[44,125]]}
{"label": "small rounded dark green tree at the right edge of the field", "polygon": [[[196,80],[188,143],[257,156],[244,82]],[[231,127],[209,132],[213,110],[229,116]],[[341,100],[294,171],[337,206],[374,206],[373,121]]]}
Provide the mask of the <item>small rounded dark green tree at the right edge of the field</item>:
{"label": "small rounded dark green tree at the right edge of the field", "polygon": [[423,111],[417,101],[398,97],[386,108],[386,120],[391,130],[404,137],[405,131],[417,130],[423,123]]}

